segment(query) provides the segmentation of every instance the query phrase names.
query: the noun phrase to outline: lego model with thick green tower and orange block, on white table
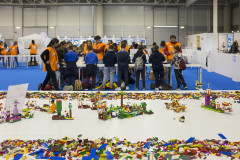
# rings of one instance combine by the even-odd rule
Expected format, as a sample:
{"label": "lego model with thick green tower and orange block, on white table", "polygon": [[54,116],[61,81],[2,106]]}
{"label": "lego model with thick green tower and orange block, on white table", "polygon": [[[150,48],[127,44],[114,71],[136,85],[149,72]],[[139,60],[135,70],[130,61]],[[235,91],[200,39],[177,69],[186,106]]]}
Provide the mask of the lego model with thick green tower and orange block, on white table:
{"label": "lego model with thick green tower and orange block, on white table", "polygon": [[72,117],[72,104],[69,103],[69,114],[67,113],[66,116],[62,115],[62,100],[57,100],[57,115],[52,116],[52,120],[73,120]]}

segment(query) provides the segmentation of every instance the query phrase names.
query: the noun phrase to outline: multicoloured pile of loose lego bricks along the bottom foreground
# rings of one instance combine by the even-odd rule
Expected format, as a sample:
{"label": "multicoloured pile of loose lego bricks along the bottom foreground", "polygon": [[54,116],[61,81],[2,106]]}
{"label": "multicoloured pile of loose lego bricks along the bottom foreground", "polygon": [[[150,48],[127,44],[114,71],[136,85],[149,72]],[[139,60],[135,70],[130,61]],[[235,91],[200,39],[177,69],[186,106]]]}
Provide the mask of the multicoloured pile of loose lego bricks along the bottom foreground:
{"label": "multicoloured pile of loose lego bricks along the bottom foreground", "polygon": [[[6,140],[0,145],[0,158],[4,159],[183,159],[188,157],[207,158],[209,155],[239,159],[240,142],[227,140],[197,140],[194,137],[186,141],[177,139],[168,142],[157,137],[146,141],[131,143],[127,140],[100,138],[95,141],[65,137],[53,140]],[[185,158],[184,158],[185,159]]]}

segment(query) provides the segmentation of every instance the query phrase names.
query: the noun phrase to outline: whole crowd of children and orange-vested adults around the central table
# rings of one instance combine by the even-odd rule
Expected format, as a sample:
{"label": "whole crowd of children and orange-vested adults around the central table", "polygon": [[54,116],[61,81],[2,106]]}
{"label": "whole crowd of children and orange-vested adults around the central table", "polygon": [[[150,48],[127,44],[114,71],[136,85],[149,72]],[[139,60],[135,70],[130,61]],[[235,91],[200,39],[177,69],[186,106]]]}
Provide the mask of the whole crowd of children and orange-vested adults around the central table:
{"label": "whole crowd of children and orange-vested adults around the central table", "polygon": [[[129,53],[130,49],[137,49],[132,59]],[[147,56],[149,56],[149,63],[152,64],[151,70],[155,77],[155,90],[163,89],[163,85],[166,83],[164,80],[164,63],[174,66],[177,80],[176,89],[180,90],[181,85],[183,85],[183,89],[187,89],[182,70],[179,69],[179,62],[183,59],[181,52],[181,44],[176,41],[175,35],[170,36],[170,42],[165,43],[162,41],[160,47],[154,43],[150,55],[146,50],[146,46],[138,45],[135,42],[131,46],[127,45],[127,41],[121,41],[120,45],[116,45],[112,40],[109,40],[108,44],[105,44],[101,42],[100,36],[95,36],[94,44],[89,40],[77,47],[71,42],[62,41],[59,43],[59,40],[54,38],[41,54],[44,63],[43,71],[46,71],[47,75],[40,90],[44,90],[49,83],[54,86],[55,90],[60,90],[56,71],[61,72],[59,80],[61,84],[72,86],[73,88],[76,80],[81,79],[84,81],[85,79],[83,83],[85,90],[89,88],[105,90],[107,83],[109,84],[108,88],[111,90],[129,90],[130,77],[135,75],[136,90],[140,89],[140,76],[142,79],[142,90],[145,90],[145,64],[148,63]],[[78,76],[76,65],[80,56],[84,57],[86,64],[86,68],[82,69],[84,73],[81,75],[82,77]],[[135,64],[135,67],[129,67],[130,63]],[[104,67],[98,67],[97,64],[104,64]],[[114,86],[115,64],[117,64],[117,86]],[[168,69],[167,74],[171,74],[171,68]],[[170,78],[170,76],[168,77]],[[91,84],[90,81],[92,82]],[[168,79],[168,82],[170,82],[170,79]]]}

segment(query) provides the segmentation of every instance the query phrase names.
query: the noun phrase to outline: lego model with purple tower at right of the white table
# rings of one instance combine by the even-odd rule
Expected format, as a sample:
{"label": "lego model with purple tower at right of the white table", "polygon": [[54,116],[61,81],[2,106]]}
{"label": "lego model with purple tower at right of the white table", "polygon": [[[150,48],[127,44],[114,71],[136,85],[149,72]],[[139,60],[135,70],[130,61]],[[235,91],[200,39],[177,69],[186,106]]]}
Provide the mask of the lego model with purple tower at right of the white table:
{"label": "lego model with purple tower at right of the white table", "polygon": [[[211,101],[211,99],[212,99],[212,101]],[[211,110],[211,111],[218,112],[218,113],[224,113],[225,111],[232,112],[232,104],[231,103],[223,102],[222,103],[223,107],[221,108],[220,103],[218,103],[218,102],[216,103],[216,99],[217,99],[217,96],[213,95],[211,93],[211,89],[209,89],[209,88],[206,89],[205,104],[202,104],[201,107]]]}

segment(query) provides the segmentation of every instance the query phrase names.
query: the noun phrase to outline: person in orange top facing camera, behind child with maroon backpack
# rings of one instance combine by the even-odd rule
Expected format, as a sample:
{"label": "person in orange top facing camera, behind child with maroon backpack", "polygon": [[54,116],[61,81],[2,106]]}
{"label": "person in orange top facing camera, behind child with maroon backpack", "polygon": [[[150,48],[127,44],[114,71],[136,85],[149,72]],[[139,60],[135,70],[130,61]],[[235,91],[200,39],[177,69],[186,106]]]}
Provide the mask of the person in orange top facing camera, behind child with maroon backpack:
{"label": "person in orange top facing camera, behind child with maroon backpack", "polygon": [[[170,36],[170,41],[166,43],[165,49],[164,49],[164,54],[167,56],[167,64],[171,64],[173,55],[174,55],[174,46],[179,47],[179,52],[182,53],[182,48],[181,44],[176,41],[176,36],[171,35]],[[167,69],[167,74],[168,74],[168,84],[170,84],[170,74],[172,74],[172,68]]]}

